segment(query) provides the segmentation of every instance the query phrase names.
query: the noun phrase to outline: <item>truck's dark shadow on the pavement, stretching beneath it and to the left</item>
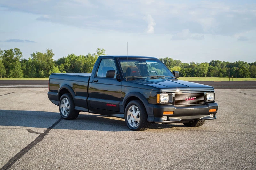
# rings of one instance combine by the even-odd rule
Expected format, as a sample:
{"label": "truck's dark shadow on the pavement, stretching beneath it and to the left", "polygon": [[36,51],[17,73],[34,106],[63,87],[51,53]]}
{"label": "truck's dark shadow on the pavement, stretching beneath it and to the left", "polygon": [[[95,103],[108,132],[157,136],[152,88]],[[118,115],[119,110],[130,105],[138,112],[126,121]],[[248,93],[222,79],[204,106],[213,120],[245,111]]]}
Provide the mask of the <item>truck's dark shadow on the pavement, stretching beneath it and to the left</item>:
{"label": "truck's dark shadow on the pavement, stretching beneath it and to the left", "polygon": [[[0,117],[0,126],[31,128],[49,128],[61,118],[60,114],[57,112],[24,110],[0,110]],[[177,124],[152,123],[149,129],[169,129],[172,127],[185,126]],[[80,112],[79,116],[75,120],[61,119],[53,129],[130,131],[126,126],[124,119],[84,112]]]}

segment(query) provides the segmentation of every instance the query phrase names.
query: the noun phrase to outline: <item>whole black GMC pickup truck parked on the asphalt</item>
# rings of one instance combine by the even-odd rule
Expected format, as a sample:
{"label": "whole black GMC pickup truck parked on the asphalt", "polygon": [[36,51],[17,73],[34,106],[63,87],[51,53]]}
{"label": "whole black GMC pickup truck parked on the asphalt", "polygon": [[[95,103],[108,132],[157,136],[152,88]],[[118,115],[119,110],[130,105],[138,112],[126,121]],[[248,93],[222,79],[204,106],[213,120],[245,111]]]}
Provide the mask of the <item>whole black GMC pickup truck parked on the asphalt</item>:
{"label": "whole black GMC pickup truck parked on the asphalt", "polygon": [[110,115],[137,131],[151,122],[195,127],[216,119],[214,88],[178,77],[157,58],[100,56],[92,73],[52,73],[48,98],[64,119],[80,111]]}

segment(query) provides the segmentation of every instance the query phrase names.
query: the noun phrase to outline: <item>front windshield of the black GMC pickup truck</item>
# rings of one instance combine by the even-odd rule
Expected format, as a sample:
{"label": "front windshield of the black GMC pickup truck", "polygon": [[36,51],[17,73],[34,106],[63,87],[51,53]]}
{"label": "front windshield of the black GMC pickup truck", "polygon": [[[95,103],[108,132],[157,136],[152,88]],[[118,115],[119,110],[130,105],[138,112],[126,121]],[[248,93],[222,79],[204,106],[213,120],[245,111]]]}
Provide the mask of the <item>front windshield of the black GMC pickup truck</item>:
{"label": "front windshield of the black GMC pickup truck", "polygon": [[123,76],[126,77],[174,77],[172,72],[157,59],[120,58]]}

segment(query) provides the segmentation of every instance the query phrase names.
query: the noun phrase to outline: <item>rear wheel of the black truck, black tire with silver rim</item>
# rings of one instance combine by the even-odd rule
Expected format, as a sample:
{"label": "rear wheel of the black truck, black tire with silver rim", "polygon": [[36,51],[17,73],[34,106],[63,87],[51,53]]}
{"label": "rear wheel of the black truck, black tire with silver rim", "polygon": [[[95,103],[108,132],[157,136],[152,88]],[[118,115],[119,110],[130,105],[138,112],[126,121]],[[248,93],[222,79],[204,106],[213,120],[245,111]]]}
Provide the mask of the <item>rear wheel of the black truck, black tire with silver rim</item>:
{"label": "rear wheel of the black truck, black tire with silver rim", "polygon": [[63,119],[76,119],[79,111],[75,110],[75,104],[71,94],[63,94],[59,101],[60,116]]}

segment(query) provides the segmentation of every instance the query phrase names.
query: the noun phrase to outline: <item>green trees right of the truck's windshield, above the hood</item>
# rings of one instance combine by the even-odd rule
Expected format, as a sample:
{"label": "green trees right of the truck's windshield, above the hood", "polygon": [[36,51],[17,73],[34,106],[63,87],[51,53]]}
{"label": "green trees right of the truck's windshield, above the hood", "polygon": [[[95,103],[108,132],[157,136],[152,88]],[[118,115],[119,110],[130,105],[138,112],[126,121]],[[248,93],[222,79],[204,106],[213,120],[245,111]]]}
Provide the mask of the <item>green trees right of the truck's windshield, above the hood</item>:
{"label": "green trees right of the truck's windshield, above the hood", "polygon": [[172,58],[160,58],[171,71],[179,71],[180,77],[237,77],[256,78],[256,61],[225,62],[212,60],[209,63],[182,63]]}

